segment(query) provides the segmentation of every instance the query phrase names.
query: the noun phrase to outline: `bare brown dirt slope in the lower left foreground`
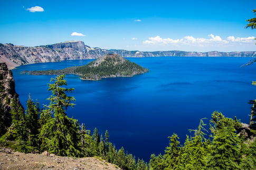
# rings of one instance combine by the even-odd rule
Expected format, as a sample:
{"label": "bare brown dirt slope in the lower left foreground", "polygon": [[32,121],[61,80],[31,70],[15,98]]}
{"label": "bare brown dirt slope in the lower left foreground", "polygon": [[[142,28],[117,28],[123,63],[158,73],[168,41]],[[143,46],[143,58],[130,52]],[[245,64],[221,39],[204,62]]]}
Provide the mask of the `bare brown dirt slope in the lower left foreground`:
{"label": "bare brown dirt slope in the lower left foreground", "polygon": [[101,158],[72,158],[49,154],[24,154],[0,148],[0,169],[120,169]]}

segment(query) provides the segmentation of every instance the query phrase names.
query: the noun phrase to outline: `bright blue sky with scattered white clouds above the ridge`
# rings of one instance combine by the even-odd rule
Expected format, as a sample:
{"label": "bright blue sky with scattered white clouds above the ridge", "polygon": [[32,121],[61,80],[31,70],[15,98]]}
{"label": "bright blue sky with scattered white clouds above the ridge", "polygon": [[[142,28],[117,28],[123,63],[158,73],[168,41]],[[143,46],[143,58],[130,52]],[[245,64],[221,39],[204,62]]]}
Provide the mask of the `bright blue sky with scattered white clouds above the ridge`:
{"label": "bright blue sky with scattered white clouds above the ridge", "polygon": [[255,0],[1,1],[0,43],[80,40],[138,51],[256,51]]}

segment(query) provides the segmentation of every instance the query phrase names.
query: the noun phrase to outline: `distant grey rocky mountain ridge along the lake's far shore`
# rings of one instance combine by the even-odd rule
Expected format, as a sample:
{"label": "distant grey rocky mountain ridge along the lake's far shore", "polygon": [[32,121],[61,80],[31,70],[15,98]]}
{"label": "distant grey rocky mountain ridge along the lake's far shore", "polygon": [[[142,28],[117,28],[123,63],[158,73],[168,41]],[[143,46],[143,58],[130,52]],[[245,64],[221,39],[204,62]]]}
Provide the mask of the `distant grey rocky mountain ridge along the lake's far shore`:
{"label": "distant grey rocky mountain ridge along the lake's far shore", "polygon": [[0,62],[5,62],[8,68],[16,66],[43,63],[60,62],[69,59],[94,59],[105,54],[119,54],[123,57],[256,57],[254,52],[184,52],[184,51],[156,51],[140,52],[126,51],[124,49],[92,48],[82,41],[68,41],[51,45],[25,47],[13,44],[0,43]]}

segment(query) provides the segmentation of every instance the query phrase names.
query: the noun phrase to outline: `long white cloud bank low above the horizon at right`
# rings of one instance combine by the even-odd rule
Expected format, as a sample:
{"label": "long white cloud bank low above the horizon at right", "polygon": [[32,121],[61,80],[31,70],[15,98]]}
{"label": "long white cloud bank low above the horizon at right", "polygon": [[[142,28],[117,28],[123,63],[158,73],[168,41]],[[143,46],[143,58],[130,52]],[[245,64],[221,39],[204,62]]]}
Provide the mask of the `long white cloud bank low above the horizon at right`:
{"label": "long white cloud bank low above the horizon at right", "polygon": [[143,44],[153,44],[153,45],[191,45],[191,46],[208,46],[208,45],[223,45],[223,44],[244,44],[251,43],[254,41],[255,37],[234,37],[229,36],[226,39],[222,39],[218,35],[210,34],[209,38],[195,38],[193,36],[185,36],[181,39],[172,39],[172,38],[161,38],[160,36],[149,37],[148,40],[144,41]]}

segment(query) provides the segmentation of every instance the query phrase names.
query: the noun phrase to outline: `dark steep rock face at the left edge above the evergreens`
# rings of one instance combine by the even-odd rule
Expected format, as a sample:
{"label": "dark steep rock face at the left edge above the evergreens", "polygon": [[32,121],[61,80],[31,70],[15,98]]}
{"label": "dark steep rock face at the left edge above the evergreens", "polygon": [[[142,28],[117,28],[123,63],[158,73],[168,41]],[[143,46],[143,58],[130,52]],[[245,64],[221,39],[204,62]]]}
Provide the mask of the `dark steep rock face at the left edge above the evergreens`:
{"label": "dark steep rock face at the left edge above the evergreens", "polygon": [[0,63],[0,122],[1,133],[3,133],[11,125],[12,109],[11,102],[15,101],[17,105],[21,106],[18,94],[15,92],[15,83],[12,71],[8,70],[5,63]]}

